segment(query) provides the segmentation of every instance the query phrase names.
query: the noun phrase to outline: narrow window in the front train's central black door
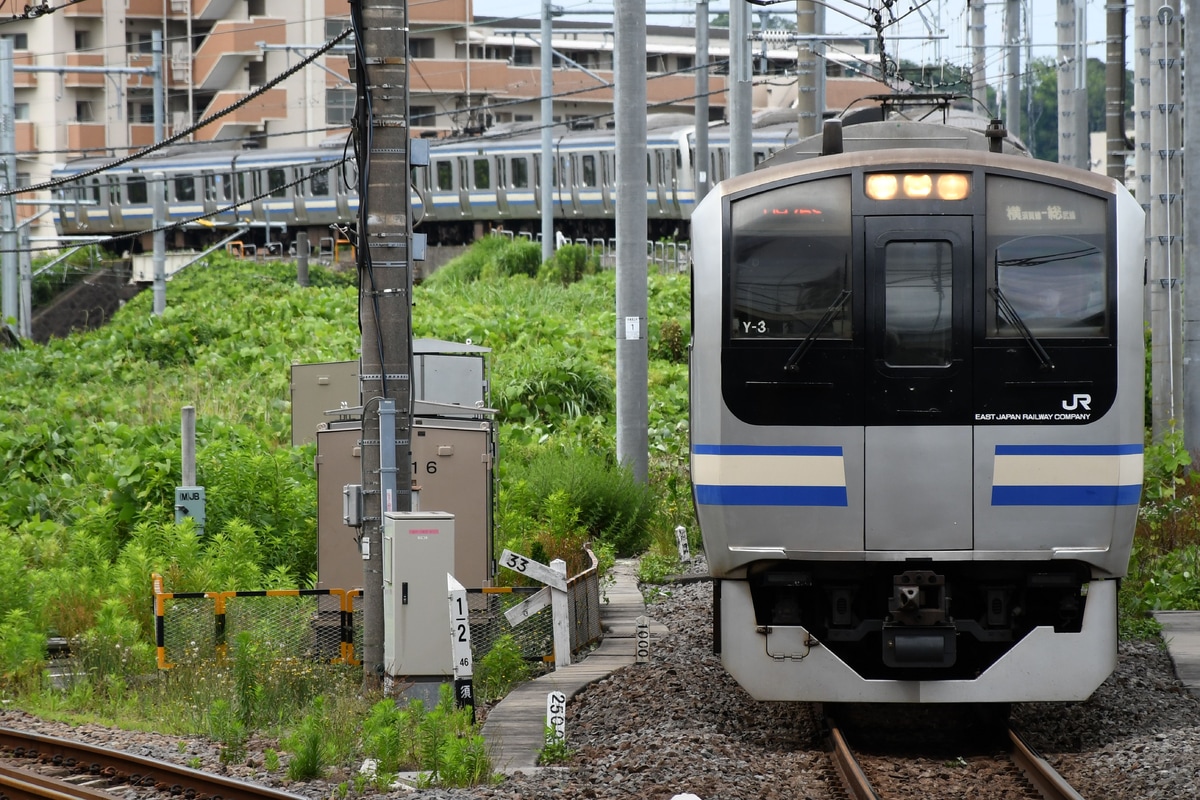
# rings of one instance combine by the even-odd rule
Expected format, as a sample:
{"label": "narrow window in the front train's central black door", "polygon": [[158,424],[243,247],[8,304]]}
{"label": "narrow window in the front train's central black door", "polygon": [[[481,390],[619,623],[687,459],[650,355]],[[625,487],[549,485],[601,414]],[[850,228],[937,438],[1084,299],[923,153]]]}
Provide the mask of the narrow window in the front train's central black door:
{"label": "narrow window in the front train's central black door", "polygon": [[883,360],[889,367],[950,363],[953,249],[948,241],[893,241],[883,251]]}

